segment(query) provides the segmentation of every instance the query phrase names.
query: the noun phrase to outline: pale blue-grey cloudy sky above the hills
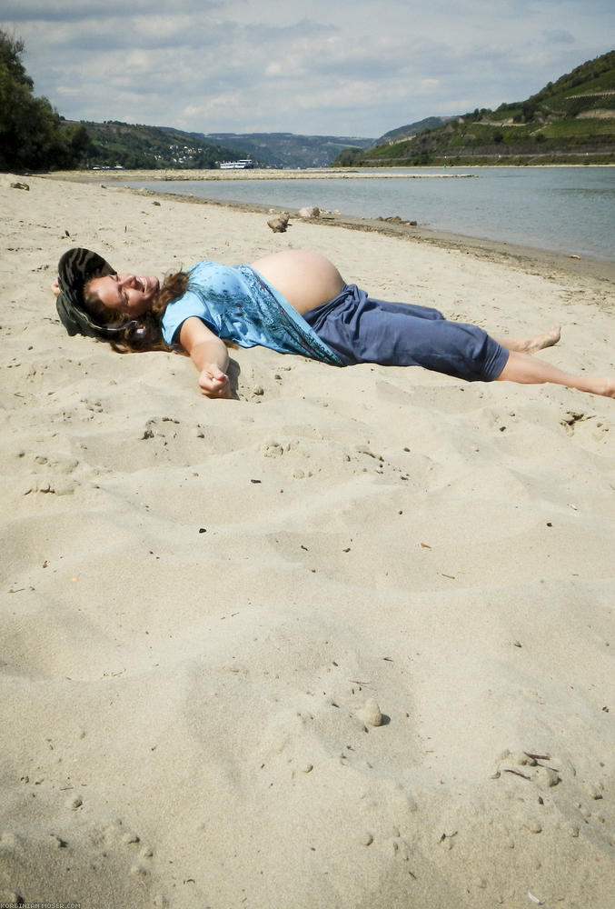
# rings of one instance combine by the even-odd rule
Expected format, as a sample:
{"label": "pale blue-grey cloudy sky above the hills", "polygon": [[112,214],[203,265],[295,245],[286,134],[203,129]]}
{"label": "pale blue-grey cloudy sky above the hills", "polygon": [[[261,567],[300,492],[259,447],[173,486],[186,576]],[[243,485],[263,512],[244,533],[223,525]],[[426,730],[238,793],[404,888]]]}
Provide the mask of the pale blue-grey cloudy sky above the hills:
{"label": "pale blue-grey cloudy sky above the hills", "polygon": [[58,112],[376,137],[521,100],[613,49],[613,0],[2,0]]}

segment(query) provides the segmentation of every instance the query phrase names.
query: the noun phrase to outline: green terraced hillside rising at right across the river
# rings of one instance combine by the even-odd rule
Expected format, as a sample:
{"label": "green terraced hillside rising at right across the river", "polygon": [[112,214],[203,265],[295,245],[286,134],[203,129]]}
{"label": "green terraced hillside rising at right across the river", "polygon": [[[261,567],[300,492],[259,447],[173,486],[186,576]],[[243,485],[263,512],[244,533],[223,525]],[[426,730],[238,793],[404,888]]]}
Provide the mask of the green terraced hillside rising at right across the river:
{"label": "green terraced hillside rising at right across the river", "polygon": [[333,164],[615,164],[615,51],[577,66],[525,101],[495,111],[477,108],[415,135],[404,134],[405,128],[364,153],[345,151]]}

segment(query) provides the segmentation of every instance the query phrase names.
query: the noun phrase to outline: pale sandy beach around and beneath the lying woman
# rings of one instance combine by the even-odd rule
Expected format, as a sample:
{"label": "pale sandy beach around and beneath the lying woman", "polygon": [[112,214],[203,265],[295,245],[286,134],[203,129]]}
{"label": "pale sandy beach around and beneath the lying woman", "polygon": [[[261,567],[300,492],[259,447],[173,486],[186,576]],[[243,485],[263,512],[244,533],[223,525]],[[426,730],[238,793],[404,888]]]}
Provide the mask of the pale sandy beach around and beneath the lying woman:
{"label": "pale sandy beach around and beneath the lying woman", "polygon": [[611,266],[107,183],[0,175],[0,903],[611,909],[615,402],[263,348],[210,401],[49,292],[306,248],[611,375]]}

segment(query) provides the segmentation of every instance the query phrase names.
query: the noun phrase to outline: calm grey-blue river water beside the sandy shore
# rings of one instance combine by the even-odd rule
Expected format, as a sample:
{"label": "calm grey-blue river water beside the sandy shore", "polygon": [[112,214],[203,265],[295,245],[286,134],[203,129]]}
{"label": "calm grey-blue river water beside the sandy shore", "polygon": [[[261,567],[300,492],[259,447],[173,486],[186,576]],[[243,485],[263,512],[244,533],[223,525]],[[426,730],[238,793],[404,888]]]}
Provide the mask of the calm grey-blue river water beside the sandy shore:
{"label": "calm grey-blue river water beside the sandy shore", "polygon": [[422,168],[391,173],[462,173],[476,175],[476,179],[341,176],[129,185],[159,193],[287,208],[318,205],[343,215],[399,215],[434,230],[615,262],[615,167]]}

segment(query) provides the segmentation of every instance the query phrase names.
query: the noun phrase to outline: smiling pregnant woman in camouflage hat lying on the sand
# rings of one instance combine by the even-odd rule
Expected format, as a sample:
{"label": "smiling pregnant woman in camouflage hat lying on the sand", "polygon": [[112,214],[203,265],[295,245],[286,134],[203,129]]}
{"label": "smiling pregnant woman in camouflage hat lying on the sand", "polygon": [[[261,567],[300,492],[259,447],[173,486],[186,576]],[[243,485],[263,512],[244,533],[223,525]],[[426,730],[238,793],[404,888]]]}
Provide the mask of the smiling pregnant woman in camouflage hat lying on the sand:
{"label": "smiling pregnant woman in camouflage hat lying on the sand", "polygon": [[570,375],[531,356],[556,344],[559,329],[496,341],[435,309],[374,300],[316,253],[287,250],[234,267],[200,262],[161,286],[154,276],[117,273],[100,255],[71,249],[52,289],[69,335],[107,341],[121,353],[185,351],[210,398],[231,396],[225,341],[336,366],[420,365],[469,382],[551,382],[615,397],[615,378]]}

